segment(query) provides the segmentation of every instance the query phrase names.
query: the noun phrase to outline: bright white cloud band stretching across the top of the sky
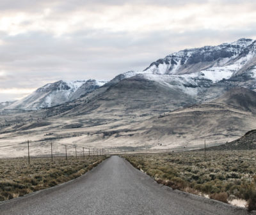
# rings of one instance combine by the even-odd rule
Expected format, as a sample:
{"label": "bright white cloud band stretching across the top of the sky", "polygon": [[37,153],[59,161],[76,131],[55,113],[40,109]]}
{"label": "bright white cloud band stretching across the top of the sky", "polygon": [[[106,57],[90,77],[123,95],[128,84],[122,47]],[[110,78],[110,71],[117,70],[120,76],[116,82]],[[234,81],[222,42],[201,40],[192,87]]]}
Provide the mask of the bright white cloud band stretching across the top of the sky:
{"label": "bright white cloud band stretching across the top of the sky", "polygon": [[92,10],[92,6],[81,6],[59,13],[56,13],[56,8],[42,8],[42,11],[37,13],[2,13],[0,31],[10,35],[43,31],[61,36],[81,29],[140,34],[160,30],[179,33],[196,29],[248,28],[256,19],[253,8],[255,4],[216,4],[214,1],[175,6],[125,4],[100,6],[99,10]]}

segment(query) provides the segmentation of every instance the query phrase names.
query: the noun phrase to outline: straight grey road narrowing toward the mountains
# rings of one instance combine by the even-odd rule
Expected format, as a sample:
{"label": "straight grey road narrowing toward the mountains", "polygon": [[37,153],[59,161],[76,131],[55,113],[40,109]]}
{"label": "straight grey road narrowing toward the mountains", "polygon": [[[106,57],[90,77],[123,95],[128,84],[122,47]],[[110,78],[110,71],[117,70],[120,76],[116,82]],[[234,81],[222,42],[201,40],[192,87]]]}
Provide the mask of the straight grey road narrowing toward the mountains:
{"label": "straight grey road narrowing toward the mountains", "polygon": [[243,209],[172,191],[112,156],[92,171],[54,188],[0,204],[1,215],[204,214],[243,215]]}

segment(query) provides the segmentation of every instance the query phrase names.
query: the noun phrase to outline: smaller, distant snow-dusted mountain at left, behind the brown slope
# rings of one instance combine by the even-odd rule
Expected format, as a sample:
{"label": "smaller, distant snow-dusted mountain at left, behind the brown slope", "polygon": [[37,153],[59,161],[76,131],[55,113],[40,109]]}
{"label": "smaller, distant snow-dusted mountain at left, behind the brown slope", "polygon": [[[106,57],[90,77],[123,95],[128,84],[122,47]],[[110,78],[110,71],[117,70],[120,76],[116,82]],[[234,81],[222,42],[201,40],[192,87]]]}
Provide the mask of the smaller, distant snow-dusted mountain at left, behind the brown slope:
{"label": "smaller, distant snow-dusted mountain at left, behind the brown slope", "polygon": [[15,101],[6,108],[38,110],[41,108],[53,107],[67,101],[75,100],[86,93],[106,84],[105,81],[98,80],[77,80],[63,81],[46,84],[38,88],[34,93],[29,94],[26,98]]}

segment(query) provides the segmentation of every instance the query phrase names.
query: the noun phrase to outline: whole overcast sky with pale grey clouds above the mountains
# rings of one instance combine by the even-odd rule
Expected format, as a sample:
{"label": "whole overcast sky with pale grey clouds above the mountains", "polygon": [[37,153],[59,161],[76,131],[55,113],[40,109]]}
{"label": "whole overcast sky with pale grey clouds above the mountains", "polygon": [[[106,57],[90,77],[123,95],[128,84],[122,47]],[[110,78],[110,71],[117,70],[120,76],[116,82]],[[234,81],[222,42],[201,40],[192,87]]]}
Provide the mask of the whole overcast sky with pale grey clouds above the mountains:
{"label": "whole overcast sky with pale grey clouds above the mountains", "polygon": [[0,101],[108,80],[184,48],[256,39],[255,0],[1,0]]}

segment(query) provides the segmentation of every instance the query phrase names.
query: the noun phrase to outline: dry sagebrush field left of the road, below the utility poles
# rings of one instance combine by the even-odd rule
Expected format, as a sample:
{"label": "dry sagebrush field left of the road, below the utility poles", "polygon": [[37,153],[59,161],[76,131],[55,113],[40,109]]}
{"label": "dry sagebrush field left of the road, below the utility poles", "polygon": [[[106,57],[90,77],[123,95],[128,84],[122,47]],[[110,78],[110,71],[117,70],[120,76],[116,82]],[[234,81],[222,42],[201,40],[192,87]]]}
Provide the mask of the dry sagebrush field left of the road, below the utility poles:
{"label": "dry sagebrush field left of the road, below the utility poles", "polygon": [[23,196],[75,179],[98,165],[106,156],[83,158],[0,159],[0,201]]}

